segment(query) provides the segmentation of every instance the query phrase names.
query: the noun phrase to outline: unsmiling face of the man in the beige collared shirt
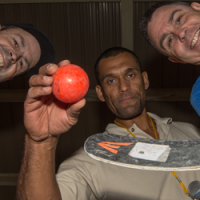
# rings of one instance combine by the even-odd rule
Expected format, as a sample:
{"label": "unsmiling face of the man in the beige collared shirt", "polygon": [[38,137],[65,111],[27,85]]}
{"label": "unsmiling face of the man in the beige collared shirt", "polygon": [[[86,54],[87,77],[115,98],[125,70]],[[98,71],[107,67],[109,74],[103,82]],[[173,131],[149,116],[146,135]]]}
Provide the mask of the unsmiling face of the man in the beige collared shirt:
{"label": "unsmiling face of the man in the beige collared shirt", "polygon": [[146,72],[141,73],[132,54],[120,53],[99,62],[99,80],[96,86],[99,99],[105,101],[115,116],[121,119],[136,117],[145,106],[145,89],[149,82]]}

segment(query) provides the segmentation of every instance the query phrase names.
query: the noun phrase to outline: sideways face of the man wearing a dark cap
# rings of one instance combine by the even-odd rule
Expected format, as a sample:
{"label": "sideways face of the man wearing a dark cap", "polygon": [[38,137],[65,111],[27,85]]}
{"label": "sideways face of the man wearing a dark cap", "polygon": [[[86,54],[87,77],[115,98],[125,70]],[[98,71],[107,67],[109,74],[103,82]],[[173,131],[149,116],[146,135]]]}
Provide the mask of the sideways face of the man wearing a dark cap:
{"label": "sideways face of the man wearing a dark cap", "polygon": [[0,31],[0,82],[34,67],[40,59],[38,41],[21,28]]}

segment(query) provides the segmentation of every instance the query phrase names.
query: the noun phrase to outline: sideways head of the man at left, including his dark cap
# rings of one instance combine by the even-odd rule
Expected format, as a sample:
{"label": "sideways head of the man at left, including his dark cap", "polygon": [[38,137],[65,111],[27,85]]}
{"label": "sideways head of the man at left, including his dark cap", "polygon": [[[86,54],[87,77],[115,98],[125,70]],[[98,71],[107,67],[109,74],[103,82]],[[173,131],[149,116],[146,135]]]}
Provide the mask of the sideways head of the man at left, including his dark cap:
{"label": "sideways head of the man at left, including his dark cap", "polygon": [[30,24],[0,25],[0,82],[53,62],[55,50],[47,36]]}

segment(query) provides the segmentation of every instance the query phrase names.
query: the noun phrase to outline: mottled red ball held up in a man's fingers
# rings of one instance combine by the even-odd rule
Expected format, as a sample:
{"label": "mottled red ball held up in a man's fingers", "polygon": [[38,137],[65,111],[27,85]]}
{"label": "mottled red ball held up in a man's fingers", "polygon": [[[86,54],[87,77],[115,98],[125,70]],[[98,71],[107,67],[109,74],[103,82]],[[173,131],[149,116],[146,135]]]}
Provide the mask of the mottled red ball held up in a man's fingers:
{"label": "mottled red ball held up in a man's fingers", "polygon": [[75,103],[81,100],[89,88],[87,74],[77,65],[59,67],[53,79],[53,94],[64,103]]}

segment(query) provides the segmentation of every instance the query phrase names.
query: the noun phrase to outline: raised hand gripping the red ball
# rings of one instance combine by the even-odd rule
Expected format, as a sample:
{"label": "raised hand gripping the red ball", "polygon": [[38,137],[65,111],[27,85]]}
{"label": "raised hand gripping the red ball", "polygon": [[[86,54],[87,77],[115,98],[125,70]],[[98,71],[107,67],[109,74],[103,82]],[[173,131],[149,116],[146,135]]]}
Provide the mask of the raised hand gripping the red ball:
{"label": "raised hand gripping the red ball", "polygon": [[86,101],[65,104],[52,94],[52,75],[59,66],[70,64],[65,60],[47,64],[40,68],[39,74],[30,78],[30,89],[24,103],[24,124],[34,141],[42,141],[49,136],[59,136],[68,131],[78,121],[78,115]]}

